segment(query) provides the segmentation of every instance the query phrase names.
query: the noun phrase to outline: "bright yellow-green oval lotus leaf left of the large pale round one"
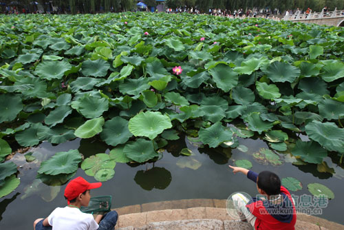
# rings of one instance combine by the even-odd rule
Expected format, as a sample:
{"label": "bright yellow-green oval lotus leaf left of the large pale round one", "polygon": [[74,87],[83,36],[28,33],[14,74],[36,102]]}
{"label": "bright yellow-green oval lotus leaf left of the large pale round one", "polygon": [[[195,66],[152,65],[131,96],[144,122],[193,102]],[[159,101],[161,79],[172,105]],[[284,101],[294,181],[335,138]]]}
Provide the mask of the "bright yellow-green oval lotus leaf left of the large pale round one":
{"label": "bright yellow-green oval lotus leaf left of the large pale round one", "polygon": [[103,131],[104,123],[105,120],[103,116],[86,121],[83,125],[75,130],[74,135],[79,138],[91,138],[92,136],[96,136],[96,134]]}

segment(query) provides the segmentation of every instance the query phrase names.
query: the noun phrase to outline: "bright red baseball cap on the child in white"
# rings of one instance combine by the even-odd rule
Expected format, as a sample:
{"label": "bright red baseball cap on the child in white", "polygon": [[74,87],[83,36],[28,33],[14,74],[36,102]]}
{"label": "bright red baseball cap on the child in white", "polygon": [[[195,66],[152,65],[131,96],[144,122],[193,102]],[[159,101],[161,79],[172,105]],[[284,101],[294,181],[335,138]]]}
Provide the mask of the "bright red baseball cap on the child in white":
{"label": "bright red baseball cap on the child in white", "polygon": [[86,190],[96,189],[100,186],[102,186],[101,182],[90,183],[81,176],[71,180],[67,187],[65,187],[65,197],[67,198],[68,204],[69,200],[73,200]]}

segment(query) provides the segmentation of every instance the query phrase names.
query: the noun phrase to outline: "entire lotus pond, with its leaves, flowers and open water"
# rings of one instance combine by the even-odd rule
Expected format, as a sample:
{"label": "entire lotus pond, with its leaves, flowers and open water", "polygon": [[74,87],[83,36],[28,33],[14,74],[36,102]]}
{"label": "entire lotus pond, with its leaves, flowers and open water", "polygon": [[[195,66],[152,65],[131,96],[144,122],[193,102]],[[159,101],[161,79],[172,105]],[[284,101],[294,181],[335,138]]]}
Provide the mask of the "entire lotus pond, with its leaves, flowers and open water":
{"label": "entire lotus pond, with its leaves, flowers and open water", "polygon": [[2,15],[0,34],[1,228],[65,205],[74,176],[103,181],[92,195],[111,194],[113,207],[254,195],[228,163],[325,194],[321,217],[343,222],[343,28]]}

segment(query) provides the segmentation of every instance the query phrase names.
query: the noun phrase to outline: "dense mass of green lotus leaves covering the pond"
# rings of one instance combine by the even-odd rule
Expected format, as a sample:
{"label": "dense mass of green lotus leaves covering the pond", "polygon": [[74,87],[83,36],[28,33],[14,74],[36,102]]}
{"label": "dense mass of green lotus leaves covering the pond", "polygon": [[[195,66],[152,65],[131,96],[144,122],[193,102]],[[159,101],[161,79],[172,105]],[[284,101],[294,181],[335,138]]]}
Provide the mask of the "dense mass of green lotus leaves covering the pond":
{"label": "dense mass of green lotus leaves covering the pond", "polygon": [[[180,134],[211,148],[256,135],[270,149],[253,156],[272,165],[283,163],[277,151],[314,164],[344,153],[343,28],[149,13],[0,21],[1,161],[10,146],[98,138],[111,154],[83,168],[108,180],[116,162],[158,160]],[[81,160],[70,155],[45,161],[40,176],[68,180]],[[13,173],[4,186],[17,185]]]}

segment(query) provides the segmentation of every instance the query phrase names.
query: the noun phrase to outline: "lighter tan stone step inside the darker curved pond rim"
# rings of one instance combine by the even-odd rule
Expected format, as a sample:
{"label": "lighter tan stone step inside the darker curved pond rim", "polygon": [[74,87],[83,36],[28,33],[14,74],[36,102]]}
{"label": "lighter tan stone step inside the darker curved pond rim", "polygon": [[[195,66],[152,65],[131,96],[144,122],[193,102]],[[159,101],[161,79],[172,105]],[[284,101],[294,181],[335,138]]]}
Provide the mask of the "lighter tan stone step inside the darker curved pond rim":
{"label": "lighter tan stone step inside the darker curved pond rim", "polygon": [[[316,222],[315,222],[316,223]],[[340,225],[340,224],[339,224]],[[164,229],[250,229],[250,224],[237,222],[226,209],[196,207],[189,209],[166,209],[120,215],[116,229],[164,230]],[[328,230],[314,222],[297,220],[296,230]],[[337,229],[336,229],[337,230]]]}

